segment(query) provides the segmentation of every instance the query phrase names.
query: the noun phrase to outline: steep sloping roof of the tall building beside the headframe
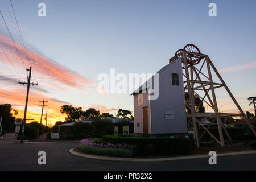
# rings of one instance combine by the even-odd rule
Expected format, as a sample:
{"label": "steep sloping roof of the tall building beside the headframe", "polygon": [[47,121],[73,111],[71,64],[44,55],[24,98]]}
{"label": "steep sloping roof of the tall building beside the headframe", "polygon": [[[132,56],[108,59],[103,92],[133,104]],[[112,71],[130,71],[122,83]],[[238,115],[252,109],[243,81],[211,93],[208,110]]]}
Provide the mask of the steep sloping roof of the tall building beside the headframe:
{"label": "steep sloping roof of the tall building beside the headframe", "polygon": [[[168,69],[170,69],[173,65],[175,65],[175,63],[177,63],[178,61],[180,61],[181,58],[175,60],[175,61],[172,61],[171,63],[165,65],[163,68],[161,68],[158,72],[158,75],[159,77],[164,73],[166,72]],[[156,75],[156,74],[155,74]],[[142,93],[142,90],[147,90],[147,88],[151,85],[151,82],[152,82],[152,86],[154,87],[154,81],[155,81],[155,75],[153,75],[151,78],[149,78],[146,82],[144,82],[144,84],[142,84],[141,86],[139,86],[138,89],[136,89],[133,93],[131,93],[131,95],[135,95],[135,94],[139,94],[139,93]],[[150,80],[150,81],[149,81]]]}

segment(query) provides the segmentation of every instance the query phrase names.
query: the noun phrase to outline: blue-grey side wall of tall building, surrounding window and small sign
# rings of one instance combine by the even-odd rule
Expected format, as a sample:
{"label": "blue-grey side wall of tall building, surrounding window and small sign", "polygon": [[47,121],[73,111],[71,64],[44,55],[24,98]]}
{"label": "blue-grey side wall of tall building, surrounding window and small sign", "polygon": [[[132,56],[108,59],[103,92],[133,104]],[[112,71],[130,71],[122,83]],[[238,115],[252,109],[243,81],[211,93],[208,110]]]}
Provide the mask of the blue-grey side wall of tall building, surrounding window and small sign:
{"label": "blue-grey side wall of tall building, surrounding window and small sign", "polygon": [[[172,65],[172,68],[170,68]],[[170,69],[168,69],[170,68]],[[160,76],[163,73],[162,76]],[[172,85],[172,74],[179,74],[179,86]],[[159,71],[159,97],[150,100],[152,134],[187,133],[187,118],[181,61]],[[174,111],[174,119],[165,119],[164,111]]]}

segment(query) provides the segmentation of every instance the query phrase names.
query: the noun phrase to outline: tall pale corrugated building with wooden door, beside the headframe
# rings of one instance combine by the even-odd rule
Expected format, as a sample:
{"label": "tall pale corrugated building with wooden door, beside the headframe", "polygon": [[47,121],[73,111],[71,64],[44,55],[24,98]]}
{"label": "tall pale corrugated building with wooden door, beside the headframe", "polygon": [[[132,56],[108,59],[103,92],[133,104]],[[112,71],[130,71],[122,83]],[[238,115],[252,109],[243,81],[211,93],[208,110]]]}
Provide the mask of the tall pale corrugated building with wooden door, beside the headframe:
{"label": "tall pale corrugated building with wooden door, beside the headframe", "polygon": [[[134,133],[187,133],[181,59],[167,64],[157,73],[159,74],[158,99],[150,100],[151,94],[145,93],[148,90],[145,88],[150,85],[149,80],[133,93]],[[156,76],[152,78],[154,85]]]}

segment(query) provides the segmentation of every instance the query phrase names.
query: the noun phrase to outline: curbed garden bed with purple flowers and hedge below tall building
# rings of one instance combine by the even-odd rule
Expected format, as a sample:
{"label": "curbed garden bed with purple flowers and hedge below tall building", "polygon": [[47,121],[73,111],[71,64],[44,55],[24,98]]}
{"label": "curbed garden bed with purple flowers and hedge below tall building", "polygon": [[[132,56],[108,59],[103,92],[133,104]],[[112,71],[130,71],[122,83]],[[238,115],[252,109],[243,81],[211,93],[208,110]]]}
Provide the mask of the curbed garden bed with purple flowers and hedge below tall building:
{"label": "curbed garden bed with purple flowers and hedge below tall building", "polygon": [[[125,141],[126,143],[121,143],[121,141]],[[201,146],[200,148],[197,148],[191,146],[190,139],[180,137],[138,138],[125,137],[123,135],[109,135],[100,139],[94,138],[81,140],[81,143],[85,148],[82,148],[81,146],[77,147],[74,149],[76,152],[89,155],[119,156],[125,158],[168,158],[174,156],[208,155],[209,151],[216,151],[217,154],[221,154],[256,150],[255,147],[249,146],[248,144],[240,146],[237,143],[226,144],[225,147],[221,147],[219,144],[214,143],[213,146]],[[86,147],[87,145],[88,147]]]}

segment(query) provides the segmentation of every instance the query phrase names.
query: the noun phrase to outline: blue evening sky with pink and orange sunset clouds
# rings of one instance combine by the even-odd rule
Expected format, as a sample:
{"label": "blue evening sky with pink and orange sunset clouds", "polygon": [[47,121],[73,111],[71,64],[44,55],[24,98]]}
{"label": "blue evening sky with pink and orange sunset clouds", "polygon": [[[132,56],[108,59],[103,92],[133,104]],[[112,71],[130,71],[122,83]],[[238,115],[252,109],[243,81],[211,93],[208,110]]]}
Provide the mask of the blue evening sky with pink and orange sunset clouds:
{"label": "blue evening sky with pink and orange sunset clouds", "polygon": [[[30,66],[38,86],[31,86],[27,118],[40,120],[40,100],[48,101],[52,123],[63,121],[64,104],[115,115],[120,108],[133,111],[133,96],[98,93],[100,73],[156,73],[188,43],[210,57],[242,109],[253,112],[247,97],[256,91],[255,1],[11,2],[30,59],[10,1],[1,0],[15,44],[0,17],[0,104],[12,104],[17,117],[23,118],[26,100],[26,86],[17,82],[26,81]],[[216,17],[208,15],[212,2]],[[38,16],[39,3],[46,4],[45,17]],[[224,113],[238,113],[224,89],[216,95]]]}

